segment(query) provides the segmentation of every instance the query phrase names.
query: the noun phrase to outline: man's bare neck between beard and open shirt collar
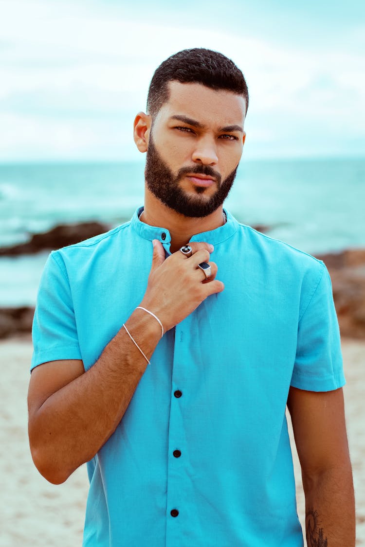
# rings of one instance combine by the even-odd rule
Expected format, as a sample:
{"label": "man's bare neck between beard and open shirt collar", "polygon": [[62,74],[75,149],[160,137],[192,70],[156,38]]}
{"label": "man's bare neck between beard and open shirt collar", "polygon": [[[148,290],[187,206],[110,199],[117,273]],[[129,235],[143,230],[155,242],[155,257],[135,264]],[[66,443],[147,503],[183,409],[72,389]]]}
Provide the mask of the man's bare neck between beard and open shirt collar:
{"label": "man's bare neck between beard and open shirt collar", "polygon": [[161,228],[169,230],[171,253],[175,253],[180,247],[186,245],[195,234],[215,230],[225,223],[223,206],[207,217],[184,217],[182,214],[166,207],[148,191],[144,195],[144,210],[141,220],[150,226],[161,226]]}

